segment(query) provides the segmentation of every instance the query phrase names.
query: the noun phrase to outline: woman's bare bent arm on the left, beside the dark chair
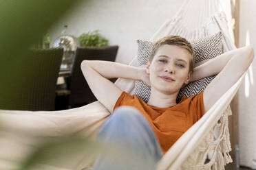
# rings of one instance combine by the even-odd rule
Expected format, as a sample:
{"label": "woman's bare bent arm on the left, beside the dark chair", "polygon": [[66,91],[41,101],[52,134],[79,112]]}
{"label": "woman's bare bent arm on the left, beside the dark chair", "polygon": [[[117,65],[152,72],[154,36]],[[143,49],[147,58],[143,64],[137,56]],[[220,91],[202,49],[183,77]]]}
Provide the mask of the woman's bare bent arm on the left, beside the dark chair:
{"label": "woman's bare bent arm on the left, beside the dark chair", "polygon": [[83,60],[81,69],[92,93],[109,112],[113,111],[122,90],[108,79],[121,77],[141,80],[143,74],[143,69],[136,66],[100,60]]}

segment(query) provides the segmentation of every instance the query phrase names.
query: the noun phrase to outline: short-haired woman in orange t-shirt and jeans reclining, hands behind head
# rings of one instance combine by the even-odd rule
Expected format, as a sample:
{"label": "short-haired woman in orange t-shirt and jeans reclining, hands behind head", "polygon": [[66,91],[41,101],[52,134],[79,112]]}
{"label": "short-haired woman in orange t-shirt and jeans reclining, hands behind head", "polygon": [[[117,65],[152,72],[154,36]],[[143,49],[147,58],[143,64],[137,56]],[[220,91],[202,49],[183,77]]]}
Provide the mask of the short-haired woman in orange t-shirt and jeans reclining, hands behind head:
{"label": "short-haired woman in orange t-shirt and jeans reclining, hands behind head", "polygon": [[[190,43],[180,36],[165,36],[153,45],[145,69],[116,62],[83,61],[81,69],[92,92],[109,112],[114,110],[99,132],[100,140],[107,145],[114,143],[120,149],[126,147],[131,155],[116,165],[118,161],[113,155],[102,154],[96,161],[96,169],[138,169],[137,162],[143,162],[143,169],[155,169],[162,154],[237,82],[253,58],[253,48],[248,46],[228,51],[193,68],[194,53]],[[183,97],[176,103],[182,86],[216,74],[202,93]],[[148,103],[107,80],[114,77],[149,84]],[[116,158],[122,157],[118,153],[124,151],[115,153]]]}

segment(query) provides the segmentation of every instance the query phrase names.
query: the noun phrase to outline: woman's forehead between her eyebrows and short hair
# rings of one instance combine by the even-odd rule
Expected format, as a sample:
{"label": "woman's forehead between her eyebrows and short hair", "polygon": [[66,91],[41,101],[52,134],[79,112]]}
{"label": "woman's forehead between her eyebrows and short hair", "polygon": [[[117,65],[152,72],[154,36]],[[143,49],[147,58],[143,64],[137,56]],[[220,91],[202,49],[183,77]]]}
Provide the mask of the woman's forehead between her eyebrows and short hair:
{"label": "woman's forehead between her eyebrows and short hair", "polygon": [[189,62],[190,53],[183,47],[178,47],[176,45],[162,45],[156,51],[154,59],[156,60],[160,56],[167,56],[174,60],[185,60],[186,62]]}

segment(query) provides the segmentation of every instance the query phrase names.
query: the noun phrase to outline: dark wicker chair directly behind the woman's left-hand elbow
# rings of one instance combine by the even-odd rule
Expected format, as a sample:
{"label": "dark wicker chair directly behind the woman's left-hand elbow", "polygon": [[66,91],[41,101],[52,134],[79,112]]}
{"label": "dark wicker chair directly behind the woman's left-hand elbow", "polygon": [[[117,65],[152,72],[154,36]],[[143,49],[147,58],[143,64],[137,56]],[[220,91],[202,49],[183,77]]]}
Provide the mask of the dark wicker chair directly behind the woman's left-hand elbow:
{"label": "dark wicker chair directly behind the woman's left-hand elbow", "polygon": [[[115,61],[118,46],[107,47],[78,47],[72,66],[72,73],[68,86],[70,88],[69,108],[83,106],[96,101],[81,71],[83,60]],[[116,79],[111,80],[114,82]]]}

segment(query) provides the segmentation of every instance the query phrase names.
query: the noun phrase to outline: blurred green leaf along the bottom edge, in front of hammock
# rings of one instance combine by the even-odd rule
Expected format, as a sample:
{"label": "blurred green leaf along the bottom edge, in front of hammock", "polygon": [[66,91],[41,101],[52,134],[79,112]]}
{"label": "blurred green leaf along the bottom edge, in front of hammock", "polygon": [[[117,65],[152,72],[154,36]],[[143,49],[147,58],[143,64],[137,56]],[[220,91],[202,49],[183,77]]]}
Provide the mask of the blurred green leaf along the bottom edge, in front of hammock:
{"label": "blurred green leaf along the bottom edge, in front of hammock", "polygon": [[[114,160],[116,167],[122,167],[122,164],[127,165],[129,162],[129,165],[137,169],[151,168],[151,165],[145,164],[144,158],[126,147],[116,145],[116,141],[105,143],[89,136],[67,135],[50,138],[38,146],[23,162],[20,170],[67,169],[65,165],[70,166],[69,164],[77,162],[77,156],[83,158],[80,161],[86,164],[82,168],[92,166],[98,156],[103,156],[105,161],[113,162]],[[72,160],[73,158],[74,160]],[[92,162],[92,164],[87,165],[88,162]]]}

